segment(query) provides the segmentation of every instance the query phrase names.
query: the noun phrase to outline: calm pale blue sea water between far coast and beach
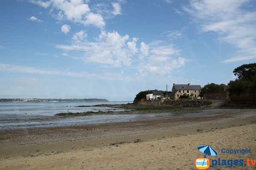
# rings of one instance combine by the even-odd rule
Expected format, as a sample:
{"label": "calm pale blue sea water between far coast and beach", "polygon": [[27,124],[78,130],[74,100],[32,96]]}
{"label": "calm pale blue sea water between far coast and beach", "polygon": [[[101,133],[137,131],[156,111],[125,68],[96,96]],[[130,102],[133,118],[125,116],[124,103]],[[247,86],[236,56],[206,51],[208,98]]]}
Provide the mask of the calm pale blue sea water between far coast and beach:
{"label": "calm pale blue sea water between far coast and beach", "polygon": [[[61,118],[56,113],[87,111],[120,111],[100,104],[127,104],[128,102],[0,102],[0,130],[31,127],[86,125],[106,122],[129,121],[132,115],[91,115]],[[130,102],[131,103],[131,102]],[[88,105],[92,107],[76,107]]]}

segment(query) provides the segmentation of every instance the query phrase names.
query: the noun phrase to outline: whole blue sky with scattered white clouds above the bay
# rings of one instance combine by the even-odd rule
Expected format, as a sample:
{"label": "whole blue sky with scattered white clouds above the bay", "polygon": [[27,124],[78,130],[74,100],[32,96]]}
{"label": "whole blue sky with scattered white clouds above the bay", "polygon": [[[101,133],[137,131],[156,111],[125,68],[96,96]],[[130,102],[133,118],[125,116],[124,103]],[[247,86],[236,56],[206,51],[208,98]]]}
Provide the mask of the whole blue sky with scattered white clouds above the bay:
{"label": "whole blue sky with scattered white clouds above the bay", "polygon": [[0,98],[131,101],[256,61],[254,0],[3,0]]}

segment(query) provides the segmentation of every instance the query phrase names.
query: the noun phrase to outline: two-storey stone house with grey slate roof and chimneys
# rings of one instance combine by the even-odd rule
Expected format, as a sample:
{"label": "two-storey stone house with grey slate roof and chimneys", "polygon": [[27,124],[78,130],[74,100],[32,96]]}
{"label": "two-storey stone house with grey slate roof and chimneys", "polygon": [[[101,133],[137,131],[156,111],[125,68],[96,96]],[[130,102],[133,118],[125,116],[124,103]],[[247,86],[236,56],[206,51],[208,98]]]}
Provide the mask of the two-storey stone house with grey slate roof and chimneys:
{"label": "two-storey stone house with grey slate roof and chimneys", "polygon": [[180,96],[197,97],[200,94],[201,88],[201,85],[191,85],[190,83],[185,85],[173,83],[172,93],[168,94],[168,96],[170,99],[180,99]]}

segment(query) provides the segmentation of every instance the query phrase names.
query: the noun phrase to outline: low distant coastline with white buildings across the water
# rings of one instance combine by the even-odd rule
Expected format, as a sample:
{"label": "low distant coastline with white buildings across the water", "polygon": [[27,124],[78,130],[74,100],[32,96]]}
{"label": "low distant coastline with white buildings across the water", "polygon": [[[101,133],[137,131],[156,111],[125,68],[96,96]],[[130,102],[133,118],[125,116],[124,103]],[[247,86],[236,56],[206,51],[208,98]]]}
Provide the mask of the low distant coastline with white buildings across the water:
{"label": "low distant coastline with white buildings across the water", "polygon": [[107,99],[0,99],[0,102],[109,102]]}

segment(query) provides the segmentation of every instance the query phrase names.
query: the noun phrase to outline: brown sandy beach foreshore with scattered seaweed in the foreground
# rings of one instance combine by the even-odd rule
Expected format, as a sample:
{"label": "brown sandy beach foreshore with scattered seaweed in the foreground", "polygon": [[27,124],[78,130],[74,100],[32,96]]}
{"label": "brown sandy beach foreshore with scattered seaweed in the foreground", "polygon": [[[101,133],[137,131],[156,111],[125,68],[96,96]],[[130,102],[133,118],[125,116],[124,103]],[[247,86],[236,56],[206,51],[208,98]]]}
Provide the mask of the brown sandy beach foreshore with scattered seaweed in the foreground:
{"label": "brown sandy beach foreshore with scattered seaweed in the foreground", "polygon": [[[0,131],[0,169],[192,170],[195,158],[203,157],[197,149],[202,144],[210,144],[219,152],[210,159],[256,159],[256,109],[208,109],[200,113]],[[252,152],[230,155],[221,153],[221,148],[250,148]]]}

